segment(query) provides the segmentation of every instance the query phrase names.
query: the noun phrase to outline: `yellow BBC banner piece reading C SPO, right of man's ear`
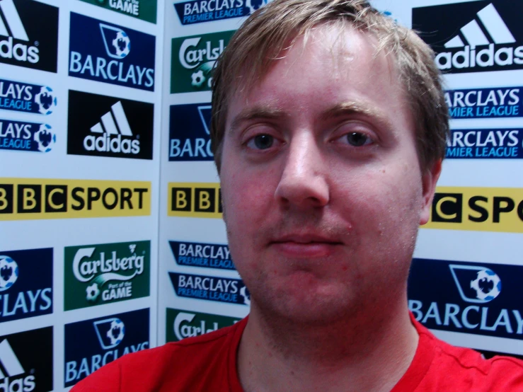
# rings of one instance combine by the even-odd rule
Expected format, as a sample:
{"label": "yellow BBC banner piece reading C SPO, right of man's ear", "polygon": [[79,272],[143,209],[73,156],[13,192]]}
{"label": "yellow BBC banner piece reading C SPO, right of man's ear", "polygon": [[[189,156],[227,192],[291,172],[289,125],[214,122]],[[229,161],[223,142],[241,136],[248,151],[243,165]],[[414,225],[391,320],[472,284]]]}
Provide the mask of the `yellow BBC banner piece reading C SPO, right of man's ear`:
{"label": "yellow BBC banner piece reading C SPO, right of man's ear", "polygon": [[439,187],[422,228],[523,233],[523,188]]}

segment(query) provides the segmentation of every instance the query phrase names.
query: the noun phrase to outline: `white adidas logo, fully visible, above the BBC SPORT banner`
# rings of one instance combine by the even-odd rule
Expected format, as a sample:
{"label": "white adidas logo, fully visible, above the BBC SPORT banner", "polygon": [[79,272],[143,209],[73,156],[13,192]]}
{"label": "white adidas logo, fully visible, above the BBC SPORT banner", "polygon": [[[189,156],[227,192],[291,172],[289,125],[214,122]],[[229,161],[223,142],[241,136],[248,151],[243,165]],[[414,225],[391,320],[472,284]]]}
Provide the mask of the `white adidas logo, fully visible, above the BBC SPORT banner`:
{"label": "white adidas logo, fully visible, above the BBC SPORT banner", "polygon": [[127,139],[133,135],[120,101],[112,105],[111,110],[101,117],[101,121],[91,127],[91,133],[100,136],[90,134],[84,138],[84,149],[86,151],[125,154],[138,154],[140,152],[138,137]]}

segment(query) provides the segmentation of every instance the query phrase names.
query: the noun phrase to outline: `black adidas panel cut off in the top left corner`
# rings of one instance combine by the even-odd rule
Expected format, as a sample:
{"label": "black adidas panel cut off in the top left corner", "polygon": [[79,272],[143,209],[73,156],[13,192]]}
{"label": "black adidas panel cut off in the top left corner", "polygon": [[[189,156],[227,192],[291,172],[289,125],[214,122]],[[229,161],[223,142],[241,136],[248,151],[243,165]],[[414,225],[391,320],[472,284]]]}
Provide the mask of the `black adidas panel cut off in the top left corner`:
{"label": "black adidas panel cut off in the top left corner", "polygon": [[58,8],[34,0],[0,0],[0,61],[56,72]]}

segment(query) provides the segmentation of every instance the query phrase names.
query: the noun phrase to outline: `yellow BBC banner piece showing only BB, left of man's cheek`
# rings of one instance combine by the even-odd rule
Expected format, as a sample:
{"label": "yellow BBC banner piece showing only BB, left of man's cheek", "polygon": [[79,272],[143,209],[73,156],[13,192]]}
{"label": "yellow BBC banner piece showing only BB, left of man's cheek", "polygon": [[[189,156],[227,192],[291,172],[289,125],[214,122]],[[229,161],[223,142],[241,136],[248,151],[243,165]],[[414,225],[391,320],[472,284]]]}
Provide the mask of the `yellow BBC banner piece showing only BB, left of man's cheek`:
{"label": "yellow BBC banner piece showing only BB, left of man's cheek", "polygon": [[168,183],[169,217],[222,218],[219,183]]}

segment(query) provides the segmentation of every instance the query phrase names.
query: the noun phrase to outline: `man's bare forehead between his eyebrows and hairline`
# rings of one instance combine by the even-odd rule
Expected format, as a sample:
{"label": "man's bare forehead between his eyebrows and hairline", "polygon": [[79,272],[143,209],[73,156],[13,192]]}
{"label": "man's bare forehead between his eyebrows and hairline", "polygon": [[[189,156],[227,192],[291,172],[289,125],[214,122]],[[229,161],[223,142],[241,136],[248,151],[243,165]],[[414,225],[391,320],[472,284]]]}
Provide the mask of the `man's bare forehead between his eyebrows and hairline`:
{"label": "man's bare forehead between his eyebrows and hairline", "polygon": [[257,105],[319,108],[346,101],[404,111],[404,98],[392,55],[377,50],[376,39],[350,25],[321,25],[283,50],[260,81],[236,90],[227,122],[239,110]]}

